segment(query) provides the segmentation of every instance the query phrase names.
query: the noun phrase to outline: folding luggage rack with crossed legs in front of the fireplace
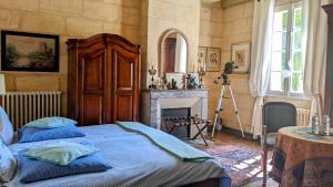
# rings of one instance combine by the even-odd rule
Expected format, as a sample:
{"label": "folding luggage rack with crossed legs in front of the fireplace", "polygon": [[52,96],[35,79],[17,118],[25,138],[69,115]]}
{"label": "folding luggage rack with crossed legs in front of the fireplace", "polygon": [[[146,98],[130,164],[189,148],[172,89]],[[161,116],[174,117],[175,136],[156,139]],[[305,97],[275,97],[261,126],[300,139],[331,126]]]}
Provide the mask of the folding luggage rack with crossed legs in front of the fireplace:
{"label": "folding luggage rack with crossed legs in front of the fireplace", "polygon": [[[173,131],[181,126],[186,126],[188,127],[188,138],[190,138],[190,129],[191,125],[194,125],[198,129],[198,133],[195,136],[193,136],[192,139],[195,139],[199,135],[202,137],[205,146],[208,146],[206,139],[202,132],[209,126],[211,123],[210,121],[198,118],[196,116],[190,116],[190,117],[164,117],[164,127],[167,129],[167,133],[171,134]],[[202,127],[199,125],[203,124]]]}

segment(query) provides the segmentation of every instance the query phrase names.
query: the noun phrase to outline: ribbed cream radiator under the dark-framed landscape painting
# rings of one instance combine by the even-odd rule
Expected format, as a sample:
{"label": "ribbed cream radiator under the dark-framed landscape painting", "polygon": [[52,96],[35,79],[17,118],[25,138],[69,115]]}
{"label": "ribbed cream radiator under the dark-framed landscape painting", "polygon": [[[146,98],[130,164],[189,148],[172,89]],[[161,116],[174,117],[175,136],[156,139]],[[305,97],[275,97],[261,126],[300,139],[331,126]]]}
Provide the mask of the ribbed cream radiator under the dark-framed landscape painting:
{"label": "ribbed cream radiator under the dark-framed landscape painting", "polygon": [[40,117],[60,116],[61,92],[7,92],[0,102],[17,131]]}

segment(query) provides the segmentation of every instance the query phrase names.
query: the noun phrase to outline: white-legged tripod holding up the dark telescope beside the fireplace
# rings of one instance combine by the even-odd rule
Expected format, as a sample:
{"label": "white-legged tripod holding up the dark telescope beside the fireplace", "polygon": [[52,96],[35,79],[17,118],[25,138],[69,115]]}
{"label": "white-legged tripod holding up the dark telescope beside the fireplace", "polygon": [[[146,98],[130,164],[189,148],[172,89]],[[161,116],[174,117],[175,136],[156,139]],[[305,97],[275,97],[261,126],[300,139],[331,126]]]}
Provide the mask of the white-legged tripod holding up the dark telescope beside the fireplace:
{"label": "white-legged tripod holding up the dark telescope beside the fireplace", "polygon": [[[221,77],[219,77],[219,79],[221,79]],[[232,103],[233,103],[234,114],[238,117],[238,122],[239,122],[239,125],[241,127],[242,136],[244,138],[244,132],[243,132],[243,126],[242,126],[242,123],[241,123],[241,117],[240,117],[239,110],[238,110],[238,106],[236,106],[235,101],[234,101],[234,96],[233,96],[233,93],[232,93],[232,89],[231,89],[231,85],[230,85],[230,80],[228,77],[228,74],[223,73],[222,79],[223,79],[223,83],[222,83],[222,87],[221,87],[221,92],[220,92],[220,100],[218,102],[218,106],[216,106],[216,110],[215,110],[215,117],[214,117],[214,124],[213,124],[213,129],[212,129],[212,138],[214,137],[218,120],[220,118],[220,114],[223,111],[222,104],[223,104],[223,98],[225,98],[224,97],[225,87],[229,87],[229,92],[230,92],[231,100],[232,100]],[[216,81],[214,81],[214,83],[218,84]],[[221,127],[222,127],[222,124],[221,124]]]}

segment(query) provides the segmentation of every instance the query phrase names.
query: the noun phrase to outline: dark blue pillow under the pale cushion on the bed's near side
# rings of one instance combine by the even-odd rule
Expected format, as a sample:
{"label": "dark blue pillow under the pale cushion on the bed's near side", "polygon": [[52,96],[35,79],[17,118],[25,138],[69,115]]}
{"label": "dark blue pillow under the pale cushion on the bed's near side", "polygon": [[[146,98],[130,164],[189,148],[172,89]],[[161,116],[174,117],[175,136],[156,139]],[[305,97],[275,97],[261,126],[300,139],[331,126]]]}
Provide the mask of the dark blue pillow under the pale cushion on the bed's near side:
{"label": "dark blue pillow under the pale cushion on the bed's near side", "polygon": [[98,173],[112,168],[107,160],[99,154],[92,154],[71,162],[67,166],[28,158],[20,152],[19,167],[20,181],[28,184],[51,178],[64,177],[78,174]]}

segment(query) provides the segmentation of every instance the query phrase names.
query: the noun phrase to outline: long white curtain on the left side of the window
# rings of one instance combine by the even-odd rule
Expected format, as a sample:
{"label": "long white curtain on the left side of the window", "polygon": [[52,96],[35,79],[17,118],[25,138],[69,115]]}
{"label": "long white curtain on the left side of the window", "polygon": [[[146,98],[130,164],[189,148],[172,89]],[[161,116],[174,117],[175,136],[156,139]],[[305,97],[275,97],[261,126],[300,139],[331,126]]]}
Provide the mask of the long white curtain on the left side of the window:
{"label": "long white curtain on the left side of the window", "polygon": [[261,135],[262,105],[270,80],[275,0],[254,0],[250,91],[255,97],[252,114],[253,138]]}

